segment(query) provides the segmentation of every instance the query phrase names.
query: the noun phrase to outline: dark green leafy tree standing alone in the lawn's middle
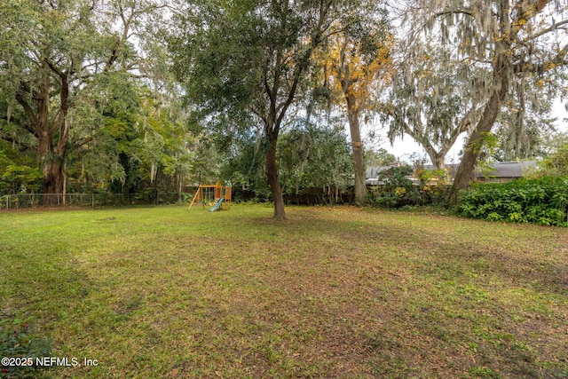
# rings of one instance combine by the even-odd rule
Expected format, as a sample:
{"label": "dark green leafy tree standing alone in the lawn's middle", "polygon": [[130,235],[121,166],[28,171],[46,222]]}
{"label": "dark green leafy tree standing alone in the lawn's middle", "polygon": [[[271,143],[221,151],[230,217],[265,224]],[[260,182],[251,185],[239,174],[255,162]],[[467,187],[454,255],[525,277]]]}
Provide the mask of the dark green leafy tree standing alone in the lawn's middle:
{"label": "dark green leafy tree standing alone in the lawn's middle", "polygon": [[227,130],[259,125],[274,217],[286,218],[277,142],[310,92],[313,53],[353,0],[187,0],[170,39],[175,71],[201,121]]}

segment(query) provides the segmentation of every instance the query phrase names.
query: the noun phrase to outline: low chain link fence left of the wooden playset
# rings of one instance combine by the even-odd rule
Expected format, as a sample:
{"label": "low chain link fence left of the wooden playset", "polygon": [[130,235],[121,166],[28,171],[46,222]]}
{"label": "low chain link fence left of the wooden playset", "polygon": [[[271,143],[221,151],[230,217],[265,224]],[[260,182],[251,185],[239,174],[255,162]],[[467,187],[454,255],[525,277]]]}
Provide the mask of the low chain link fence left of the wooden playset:
{"label": "low chain link fence left of the wooden playset", "polygon": [[0,209],[160,205],[191,201],[192,193],[18,193],[0,196]]}

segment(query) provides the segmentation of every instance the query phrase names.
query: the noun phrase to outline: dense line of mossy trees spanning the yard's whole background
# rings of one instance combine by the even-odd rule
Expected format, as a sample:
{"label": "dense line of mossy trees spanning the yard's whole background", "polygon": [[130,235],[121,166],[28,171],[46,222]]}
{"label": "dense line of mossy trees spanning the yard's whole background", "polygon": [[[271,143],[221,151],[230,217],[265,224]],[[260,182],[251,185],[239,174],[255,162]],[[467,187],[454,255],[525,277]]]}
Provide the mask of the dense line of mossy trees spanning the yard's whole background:
{"label": "dense line of mossy trees spanning the yard's whole background", "polygon": [[468,136],[455,201],[479,160],[552,153],[566,6],[3,2],[0,192],[181,198],[223,179],[285,218],[284,196],[312,188],[336,200],[354,186],[365,202],[367,162],[392,161],[364,144],[365,126],[383,122],[438,169]]}

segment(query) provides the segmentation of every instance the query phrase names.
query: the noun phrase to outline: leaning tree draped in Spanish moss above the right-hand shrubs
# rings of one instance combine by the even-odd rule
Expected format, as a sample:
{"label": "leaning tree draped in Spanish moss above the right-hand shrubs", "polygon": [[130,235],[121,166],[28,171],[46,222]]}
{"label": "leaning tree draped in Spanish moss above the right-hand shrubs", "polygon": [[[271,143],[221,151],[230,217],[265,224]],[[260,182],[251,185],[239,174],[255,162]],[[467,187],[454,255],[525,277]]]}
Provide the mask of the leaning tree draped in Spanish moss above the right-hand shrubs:
{"label": "leaning tree draped in Spanish moss above the right-hand shrubs", "polygon": [[[543,80],[566,64],[568,43],[556,38],[568,25],[563,0],[436,0],[414,2],[408,12],[414,38],[436,36],[470,67],[490,73],[477,89],[479,114],[472,120],[450,200],[468,188],[485,138],[506,106],[517,78]],[[419,36],[422,35],[422,36]],[[412,43],[408,44],[412,46]],[[439,62],[445,64],[444,61]],[[468,77],[467,75],[465,77]]]}

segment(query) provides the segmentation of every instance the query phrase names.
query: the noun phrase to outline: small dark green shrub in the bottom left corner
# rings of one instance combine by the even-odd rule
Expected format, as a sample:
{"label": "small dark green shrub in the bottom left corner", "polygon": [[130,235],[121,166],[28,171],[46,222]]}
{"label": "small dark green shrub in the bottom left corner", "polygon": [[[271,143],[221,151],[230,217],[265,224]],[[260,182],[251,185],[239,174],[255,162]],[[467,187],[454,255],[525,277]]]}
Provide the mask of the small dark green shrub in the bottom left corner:
{"label": "small dark green shrub in the bottom left corner", "polygon": [[0,378],[36,378],[36,358],[51,357],[51,338],[40,337],[28,323],[13,320],[0,329],[0,357],[8,359],[31,358],[30,366],[0,365]]}

